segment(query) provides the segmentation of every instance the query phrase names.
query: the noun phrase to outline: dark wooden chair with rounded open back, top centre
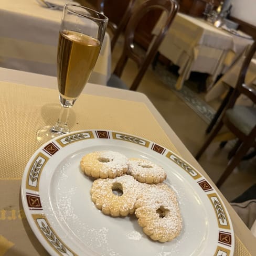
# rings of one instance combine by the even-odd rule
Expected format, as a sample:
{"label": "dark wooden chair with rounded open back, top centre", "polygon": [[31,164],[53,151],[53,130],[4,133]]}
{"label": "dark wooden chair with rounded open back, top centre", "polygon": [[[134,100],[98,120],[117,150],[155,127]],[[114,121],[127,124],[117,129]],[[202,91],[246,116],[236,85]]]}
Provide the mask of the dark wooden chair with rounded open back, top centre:
{"label": "dark wooden chair with rounded open back, top centre", "polygon": [[[156,55],[157,49],[161,44],[164,36],[170,26],[172,24],[174,17],[178,12],[179,5],[176,0],[148,0],[138,6],[132,16],[127,23],[125,33],[124,33],[124,47],[122,51],[122,55],[115,67],[115,70],[108,81],[108,86],[110,87],[118,87],[125,88],[128,87],[122,82],[120,79],[123,69],[126,65],[128,58],[131,58],[138,65],[138,73],[132,83],[130,90],[136,90],[138,84],[141,82],[144,73],[146,72],[148,66],[152,62],[154,56]],[[134,35],[137,25],[140,23],[140,20],[144,17],[144,15],[151,10],[163,10],[167,14],[167,19],[165,24],[163,25],[161,31],[157,36],[155,36],[148,47],[146,54],[138,54],[134,51]]]}

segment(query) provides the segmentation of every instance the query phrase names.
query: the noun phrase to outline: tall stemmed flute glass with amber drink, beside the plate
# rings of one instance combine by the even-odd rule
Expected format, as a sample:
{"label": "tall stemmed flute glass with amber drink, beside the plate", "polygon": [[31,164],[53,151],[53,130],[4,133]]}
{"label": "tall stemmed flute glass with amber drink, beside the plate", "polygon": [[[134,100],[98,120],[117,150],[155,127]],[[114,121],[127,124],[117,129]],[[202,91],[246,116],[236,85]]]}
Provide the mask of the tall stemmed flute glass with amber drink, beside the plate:
{"label": "tall stemmed flute glass with amber drink, beside the plate", "polygon": [[42,127],[37,140],[44,144],[69,132],[68,113],[81,94],[98,59],[108,18],[76,4],[66,4],[59,31],[57,78],[61,111],[54,126]]}

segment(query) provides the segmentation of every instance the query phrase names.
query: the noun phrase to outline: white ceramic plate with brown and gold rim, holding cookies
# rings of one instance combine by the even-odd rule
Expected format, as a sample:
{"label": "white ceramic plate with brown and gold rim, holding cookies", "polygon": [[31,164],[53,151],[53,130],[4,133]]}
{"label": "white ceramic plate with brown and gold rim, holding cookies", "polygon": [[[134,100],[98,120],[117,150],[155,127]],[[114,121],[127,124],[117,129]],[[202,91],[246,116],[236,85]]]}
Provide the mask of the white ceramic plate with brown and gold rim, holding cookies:
{"label": "white ceramic plate with brown and gold rim, holding cookies", "polygon": [[[80,170],[92,151],[112,150],[162,165],[183,217],[180,235],[148,238],[134,215],[103,215],[90,198],[93,179]],[[114,131],[78,131],[45,144],[29,160],[22,180],[29,225],[51,255],[232,256],[234,233],[217,191],[183,159],[144,138]]]}

